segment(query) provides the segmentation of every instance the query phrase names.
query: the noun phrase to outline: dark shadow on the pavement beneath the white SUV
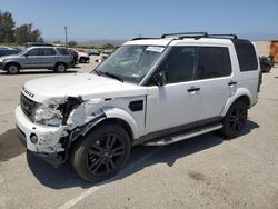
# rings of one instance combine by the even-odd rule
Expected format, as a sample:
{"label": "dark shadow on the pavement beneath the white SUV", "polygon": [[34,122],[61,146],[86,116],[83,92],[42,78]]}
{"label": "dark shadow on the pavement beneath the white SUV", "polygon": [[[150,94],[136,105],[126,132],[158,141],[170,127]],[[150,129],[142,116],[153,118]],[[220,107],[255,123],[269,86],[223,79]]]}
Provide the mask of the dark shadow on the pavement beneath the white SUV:
{"label": "dark shadow on the pavement beneath the white SUV", "polygon": [[[259,125],[248,120],[241,136],[248,135],[256,128],[259,128]],[[237,139],[239,138],[235,138],[234,140]],[[64,189],[71,187],[90,188],[123,179],[152,165],[167,163],[169,167],[172,167],[176,160],[218,146],[222,143],[224,140],[225,139],[221,136],[212,132],[165,147],[133,147],[130,160],[126,168],[116,177],[99,183],[83,181],[73,172],[69,163],[62,165],[59,168],[53,168],[43,159],[33,156],[31,152],[27,152],[27,160],[36,178],[46,187],[52,189]]]}

